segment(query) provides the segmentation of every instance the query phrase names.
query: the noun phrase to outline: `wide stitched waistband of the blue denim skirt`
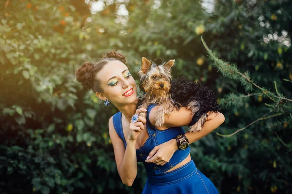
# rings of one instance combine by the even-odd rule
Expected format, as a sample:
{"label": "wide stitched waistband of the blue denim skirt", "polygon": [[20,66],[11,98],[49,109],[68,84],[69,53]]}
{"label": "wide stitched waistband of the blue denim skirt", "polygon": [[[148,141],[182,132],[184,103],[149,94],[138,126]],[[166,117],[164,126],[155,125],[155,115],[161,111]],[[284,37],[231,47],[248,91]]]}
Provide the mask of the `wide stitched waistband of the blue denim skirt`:
{"label": "wide stitched waistband of the blue denim skirt", "polygon": [[197,172],[196,165],[193,159],[191,159],[190,162],[173,171],[162,173],[159,175],[148,174],[147,178],[148,181],[154,185],[169,185],[189,178],[196,172]]}

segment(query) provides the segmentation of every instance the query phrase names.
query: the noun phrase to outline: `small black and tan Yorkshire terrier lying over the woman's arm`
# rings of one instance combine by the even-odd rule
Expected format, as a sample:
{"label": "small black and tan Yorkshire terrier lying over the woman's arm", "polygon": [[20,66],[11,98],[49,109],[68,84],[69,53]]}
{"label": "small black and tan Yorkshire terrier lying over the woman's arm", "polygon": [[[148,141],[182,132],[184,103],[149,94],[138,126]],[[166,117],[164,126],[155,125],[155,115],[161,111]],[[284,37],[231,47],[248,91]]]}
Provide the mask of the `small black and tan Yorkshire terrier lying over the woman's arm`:
{"label": "small black and tan Yorkshire terrier lying over the woman's arm", "polygon": [[[142,66],[139,73],[140,90],[143,95],[139,98],[138,107],[147,108],[149,104],[159,104],[155,115],[155,125],[164,124],[165,115],[174,110],[187,107],[192,112],[192,122],[189,131],[201,131],[207,118],[207,112],[216,113],[220,110],[215,93],[199,82],[189,81],[185,77],[172,80],[171,67],[175,60],[168,62],[155,59],[153,62],[142,58]],[[145,113],[140,116],[146,117]]]}

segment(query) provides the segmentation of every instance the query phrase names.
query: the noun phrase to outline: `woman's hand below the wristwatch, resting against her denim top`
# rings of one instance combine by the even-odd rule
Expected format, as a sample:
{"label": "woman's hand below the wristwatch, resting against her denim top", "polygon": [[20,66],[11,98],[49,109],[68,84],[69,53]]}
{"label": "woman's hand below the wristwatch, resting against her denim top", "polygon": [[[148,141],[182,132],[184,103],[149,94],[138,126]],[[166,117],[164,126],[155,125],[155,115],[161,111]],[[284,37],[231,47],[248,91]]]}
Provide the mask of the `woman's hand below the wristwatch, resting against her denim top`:
{"label": "woman's hand below the wristwatch, resting against her denim top", "polygon": [[178,150],[178,146],[175,139],[164,142],[155,146],[149,153],[149,156],[145,160],[147,163],[155,163],[156,165],[163,166],[170,161],[174,152]]}

